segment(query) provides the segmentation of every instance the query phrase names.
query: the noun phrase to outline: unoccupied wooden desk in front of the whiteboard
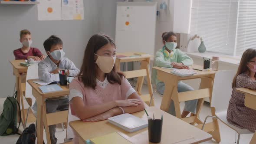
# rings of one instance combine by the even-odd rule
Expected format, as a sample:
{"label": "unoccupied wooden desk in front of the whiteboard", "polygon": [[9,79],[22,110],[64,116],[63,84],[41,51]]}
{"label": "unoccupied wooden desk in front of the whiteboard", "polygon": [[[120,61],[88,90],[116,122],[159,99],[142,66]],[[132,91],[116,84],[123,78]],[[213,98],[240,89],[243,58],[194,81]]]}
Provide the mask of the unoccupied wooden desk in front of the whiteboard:
{"label": "unoccupied wooden desk in front of the whiteboard", "polygon": [[[151,72],[150,72],[150,59],[154,58],[154,56],[148,55],[148,56],[135,56],[136,52],[120,52],[116,53],[116,56],[126,56],[122,58],[116,58],[115,65],[117,66],[117,69],[120,71],[120,63],[121,62],[141,62],[140,69],[146,69],[147,71],[147,84],[148,84],[148,92],[149,95],[152,96],[153,94],[153,88],[151,84]],[[131,72],[131,71],[129,71]],[[135,75],[136,76],[136,75]],[[138,92],[138,95],[141,95],[141,88],[144,82],[144,77],[140,77],[138,73],[138,80],[135,87],[135,91]],[[154,105],[154,100],[152,100],[152,105]]]}

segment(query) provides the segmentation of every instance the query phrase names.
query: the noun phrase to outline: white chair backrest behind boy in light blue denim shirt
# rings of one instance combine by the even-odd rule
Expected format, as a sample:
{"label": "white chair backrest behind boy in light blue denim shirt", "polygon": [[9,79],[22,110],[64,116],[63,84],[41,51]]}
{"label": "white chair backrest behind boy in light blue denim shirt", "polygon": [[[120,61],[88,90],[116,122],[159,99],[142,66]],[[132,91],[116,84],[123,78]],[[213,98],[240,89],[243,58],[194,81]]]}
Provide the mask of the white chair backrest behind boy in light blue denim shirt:
{"label": "white chair backrest behind boy in light blue denim shirt", "polygon": [[[36,98],[32,95],[32,87],[28,84],[27,80],[29,79],[38,79],[38,65],[34,64],[28,67],[26,73],[26,89],[25,89],[25,98],[32,99],[32,105],[35,103]],[[30,105],[30,106],[32,106]]]}

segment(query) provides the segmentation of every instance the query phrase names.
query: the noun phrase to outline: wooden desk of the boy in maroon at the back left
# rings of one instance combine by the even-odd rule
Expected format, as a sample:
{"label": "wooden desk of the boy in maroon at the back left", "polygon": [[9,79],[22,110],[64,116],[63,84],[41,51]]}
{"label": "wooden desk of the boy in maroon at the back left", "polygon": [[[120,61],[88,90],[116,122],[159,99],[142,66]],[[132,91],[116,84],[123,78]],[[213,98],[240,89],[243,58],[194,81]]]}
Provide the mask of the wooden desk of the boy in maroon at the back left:
{"label": "wooden desk of the boy in maroon at the back left", "polygon": [[[21,107],[21,123],[23,128],[25,126],[25,115],[28,109],[24,109],[24,102],[23,102],[23,91],[25,90],[25,83],[21,83],[21,73],[27,72],[27,67],[20,65],[20,62],[25,62],[24,59],[21,60],[12,60],[10,61],[11,65],[13,66],[13,73],[16,77],[16,91],[17,93],[17,101],[20,103]],[[19,117],[18,117],[19,118]],[[30,118],[30,119],[29,119]],[[35,118],[32,113],[30,113],[28,118],[28,122],[35,121]]]}

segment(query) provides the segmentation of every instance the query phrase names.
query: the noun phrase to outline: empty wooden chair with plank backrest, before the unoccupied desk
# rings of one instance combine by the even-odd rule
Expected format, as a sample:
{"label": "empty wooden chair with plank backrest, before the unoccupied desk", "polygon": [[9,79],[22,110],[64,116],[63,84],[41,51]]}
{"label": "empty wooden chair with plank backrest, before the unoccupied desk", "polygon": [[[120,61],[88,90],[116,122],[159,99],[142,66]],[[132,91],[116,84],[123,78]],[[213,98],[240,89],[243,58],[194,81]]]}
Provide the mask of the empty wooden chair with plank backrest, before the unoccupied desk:
{"label": "empty wooden chair with plank backrest, before the unoccupied desk", "polygon": [[[133,71],[126,71],[123,72],[126,76],[126,79],[131,79],[131,78],[138,78],[137,79],[137,84],[135,87],[135,91],[138,92],[138,95],[140,95],[141,99],[148,105],[148,106],[154,106],[154,98],[152,98],[153,95],[147,94],[147,95],[142,95],[141,94],[141,88],[144,82],[144,76],[149,76],[147,74],[146,69],[140,69],[140,70],[133,70]],[[152,99],[151,99],[152,98]]]}

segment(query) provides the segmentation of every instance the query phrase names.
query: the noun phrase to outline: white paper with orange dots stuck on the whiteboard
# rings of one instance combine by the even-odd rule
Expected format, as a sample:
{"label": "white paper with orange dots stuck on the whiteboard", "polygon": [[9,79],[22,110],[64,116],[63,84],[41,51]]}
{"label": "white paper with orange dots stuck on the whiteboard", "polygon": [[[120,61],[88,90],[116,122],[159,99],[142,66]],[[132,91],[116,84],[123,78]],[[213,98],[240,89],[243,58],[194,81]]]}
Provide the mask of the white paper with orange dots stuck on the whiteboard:
{"label": "white paper with orange dots stuck on the whiteboard", "polygon": [[117,22],[117,29],[120,31],[128,31],[132,26],[132,7],[118,7],[121,13],[118,13],[119,20]]}

